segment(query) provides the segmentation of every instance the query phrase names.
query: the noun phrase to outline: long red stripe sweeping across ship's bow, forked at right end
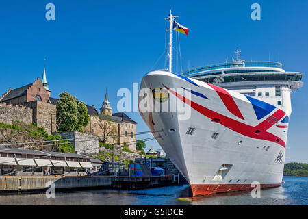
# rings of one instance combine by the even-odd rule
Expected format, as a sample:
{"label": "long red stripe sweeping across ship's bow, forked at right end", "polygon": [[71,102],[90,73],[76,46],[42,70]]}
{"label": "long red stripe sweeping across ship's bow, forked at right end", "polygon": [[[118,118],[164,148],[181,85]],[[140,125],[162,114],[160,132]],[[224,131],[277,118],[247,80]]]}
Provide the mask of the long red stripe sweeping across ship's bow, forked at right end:
{"label": "long red stripe sweeping across ship's bow, forked at right end", "polygon": [[270,127],[272,127],[275,123],[277,123],[277,120],[280,120],[281,118],[283,118],[283,116],[285,116],[285,112],[283,112],[282,110],[280,109],[277,110],[276,112],[274,112],[274,114],[272,114],[266,120],[259,123],[257,126],[253,127],[251,125],[241,123],[237,120],[234,120],[222,114],[218,114],[218,112],[209,110],[206,107],[199,105],[198,103],[194,103],[193,101],[190,101],[190,100],[186,101],[185,96],[181,96],[180,94],[178,94],[174,90],[169,89],[166,86],[165,88],[168,89],[172,94],[177,96],[177,98],[179,98],[181,101],[190,105],[190,107],[192,107],[194,110],[198,111],[204,116],[207,116],[207,118],[211,120],[213,119],[219,120],[219,123],[223,125],[224,127],[227,127],[237,133],[240,133],[243,136],[248,136],[250,138],[261,139],[261,140],[268,140],[270,142],[280,144],[281,146],[285,148],[285,142],[283,142],[281,138],[266,131]]}

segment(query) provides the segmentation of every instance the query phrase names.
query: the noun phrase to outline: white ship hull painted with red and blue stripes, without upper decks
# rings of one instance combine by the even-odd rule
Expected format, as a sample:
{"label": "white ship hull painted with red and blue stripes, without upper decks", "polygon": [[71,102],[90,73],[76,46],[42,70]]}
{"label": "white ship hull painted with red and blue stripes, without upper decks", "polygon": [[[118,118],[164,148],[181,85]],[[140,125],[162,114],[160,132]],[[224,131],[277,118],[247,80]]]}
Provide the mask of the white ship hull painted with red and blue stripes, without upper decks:
{"label": "white ship hull painted with red and blue stripes, without upper decks", "polygon": [[[140,109],[140,114],[190,183],[193,196],[252,190],[253,182],[261,188],[281,185],[287,142],[287,123],[281,120],[290,113],[272,105],[259,109],[261,101],[168,72],[148,73],[143,88],[168,91],[164,103],[151,99],[149,112]],[[183,99],[185,94],[190,95]],[[168,112],[155,112],[155,107],[166,103]],[[170,112],[179,103],[190,108],[188,118],[179,110]],[[266,115],[258,119],[257,114]]]}

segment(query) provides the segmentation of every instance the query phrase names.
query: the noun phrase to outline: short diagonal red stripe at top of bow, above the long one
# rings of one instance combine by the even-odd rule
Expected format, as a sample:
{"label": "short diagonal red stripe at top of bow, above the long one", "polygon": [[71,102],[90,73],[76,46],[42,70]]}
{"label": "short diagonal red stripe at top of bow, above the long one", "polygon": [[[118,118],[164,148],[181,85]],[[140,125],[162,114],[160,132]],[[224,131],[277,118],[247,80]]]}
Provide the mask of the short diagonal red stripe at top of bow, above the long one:
{"label": "short diagonal red stripe at top of bow, above the long one", "polygon": [[238,105],[236,105],[235,101],[233,100],[233,97],[227,92],[227,90],[224,90],[224,88],[220,88],[218,86],[214,86],[210,83],[207,83],[207,85],[216,90],[224,105],[233,115],[238,116],[238,118],[242,118],[244,120],[244,117],[242,116]]}

